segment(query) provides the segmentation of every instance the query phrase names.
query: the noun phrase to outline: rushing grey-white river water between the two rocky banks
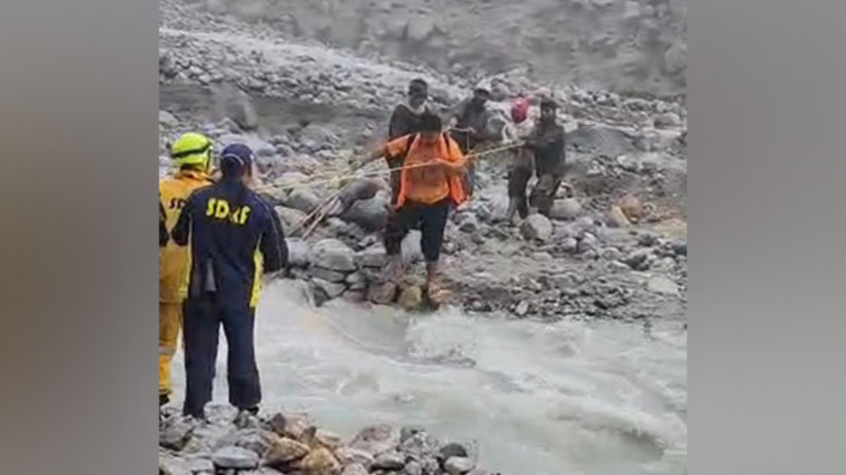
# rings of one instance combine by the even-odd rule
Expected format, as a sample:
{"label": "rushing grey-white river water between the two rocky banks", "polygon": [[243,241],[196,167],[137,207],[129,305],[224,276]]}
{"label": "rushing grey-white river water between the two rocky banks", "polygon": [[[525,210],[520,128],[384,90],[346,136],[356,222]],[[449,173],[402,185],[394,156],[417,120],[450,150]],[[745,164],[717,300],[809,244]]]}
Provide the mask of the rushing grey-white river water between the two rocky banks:
{"label": "rushing grey-white river water between the two rocky banks", "polygon": [[[514,475],[686,472],[686,332],[313,308],[292,281],[266,288],[257,318],[267,410],[307,410],[344,435],[425,426],[475,440],[483,467]],[[183,374],[179,359],[177,398]]]}

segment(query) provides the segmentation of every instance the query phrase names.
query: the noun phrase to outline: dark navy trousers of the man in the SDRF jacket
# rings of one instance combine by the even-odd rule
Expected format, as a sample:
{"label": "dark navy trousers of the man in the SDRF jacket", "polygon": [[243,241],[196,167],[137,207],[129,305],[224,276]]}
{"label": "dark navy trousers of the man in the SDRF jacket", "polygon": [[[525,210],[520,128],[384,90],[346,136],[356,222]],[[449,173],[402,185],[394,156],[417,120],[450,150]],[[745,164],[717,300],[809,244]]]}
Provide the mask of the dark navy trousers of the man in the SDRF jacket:
{"label": "dark navy trousers of the man in the SDRF jacket", "polygon": [[217,302],[216,296],[210,293],[184,303],[185,415],[202,418],[206,403],[211,401],[221,325],[228,345],[229,403],[239,409],[250,409],[261,402],[253,345],[255,309],[246,303]]}

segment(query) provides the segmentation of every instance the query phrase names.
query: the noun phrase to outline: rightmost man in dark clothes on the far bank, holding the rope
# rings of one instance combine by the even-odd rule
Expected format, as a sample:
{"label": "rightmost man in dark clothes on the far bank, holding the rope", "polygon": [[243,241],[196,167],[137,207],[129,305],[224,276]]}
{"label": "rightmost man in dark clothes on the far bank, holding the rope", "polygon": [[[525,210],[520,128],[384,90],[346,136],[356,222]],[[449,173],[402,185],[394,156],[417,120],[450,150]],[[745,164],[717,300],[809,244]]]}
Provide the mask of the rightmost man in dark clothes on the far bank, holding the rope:
{"label": "rightmost man in dark clothes on the far bank, holding the rope", "polygon": [[564,128],[557,122],[557,113],[555,101],[542,100],[541,119],[525,141],[525,147],[534,152],[538,178],[529,196],[530,214],[549,216],[564,176]]}

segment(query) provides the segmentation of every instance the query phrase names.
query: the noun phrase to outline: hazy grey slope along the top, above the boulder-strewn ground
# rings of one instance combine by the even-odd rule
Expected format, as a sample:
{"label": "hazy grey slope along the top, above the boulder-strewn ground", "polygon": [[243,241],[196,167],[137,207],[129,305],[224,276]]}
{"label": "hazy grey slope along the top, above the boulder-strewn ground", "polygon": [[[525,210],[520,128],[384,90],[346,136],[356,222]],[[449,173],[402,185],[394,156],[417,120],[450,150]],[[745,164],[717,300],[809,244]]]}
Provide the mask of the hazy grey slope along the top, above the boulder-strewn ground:
{"label": "hazy grey slope along the top, above the boulder-strewn ground", "polygon": [[686,92],[686,0],[198,0],[196,6],[360,56],[451,74],[519,70],[535,81]]}

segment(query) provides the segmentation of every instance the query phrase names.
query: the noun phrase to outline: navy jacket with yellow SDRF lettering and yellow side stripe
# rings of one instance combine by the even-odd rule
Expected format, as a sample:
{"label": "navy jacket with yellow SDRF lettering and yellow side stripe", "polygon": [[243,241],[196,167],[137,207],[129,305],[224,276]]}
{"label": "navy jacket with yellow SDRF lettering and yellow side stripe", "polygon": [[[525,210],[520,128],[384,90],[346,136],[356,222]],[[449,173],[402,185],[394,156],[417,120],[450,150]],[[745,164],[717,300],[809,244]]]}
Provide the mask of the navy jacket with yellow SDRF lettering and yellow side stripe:
{"label": "navy jacket with yellow SDRF lettering and yellow side stripe", "polygon": [[171,236],[180,246],[190,240],[189,298],[215,292],[218,302],[255,308],[261,273],[288,265],[279,217],[238,181],[196,189]]}

